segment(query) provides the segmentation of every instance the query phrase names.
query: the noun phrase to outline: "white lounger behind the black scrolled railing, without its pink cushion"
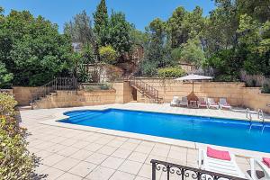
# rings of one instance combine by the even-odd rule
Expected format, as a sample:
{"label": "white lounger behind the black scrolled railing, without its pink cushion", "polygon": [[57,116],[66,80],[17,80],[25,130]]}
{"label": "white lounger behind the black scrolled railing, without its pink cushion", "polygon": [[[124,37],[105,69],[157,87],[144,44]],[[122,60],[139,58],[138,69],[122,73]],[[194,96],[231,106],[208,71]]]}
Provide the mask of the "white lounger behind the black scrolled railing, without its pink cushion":
{"label": "white lounger behind the black scrolled railing, without its pink cushion", "polygon": [[[229,153],[229,157],[230,160],[221,160],[218,158],[208,157],[206,150],[199,149],[199,167],[203,170],[220,173],[223,175],[247,178],[238,167],[234,154]],[[210,175],[206,175],[205,179],[212,179],[212,177]]]}

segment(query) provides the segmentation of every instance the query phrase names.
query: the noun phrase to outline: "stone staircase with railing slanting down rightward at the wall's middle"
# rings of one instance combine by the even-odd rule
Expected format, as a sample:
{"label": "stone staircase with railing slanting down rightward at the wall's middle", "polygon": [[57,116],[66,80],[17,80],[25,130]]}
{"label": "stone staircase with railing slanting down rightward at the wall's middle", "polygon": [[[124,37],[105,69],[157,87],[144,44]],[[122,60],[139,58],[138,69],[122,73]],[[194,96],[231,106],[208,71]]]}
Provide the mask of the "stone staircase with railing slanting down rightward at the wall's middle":
{"label": "stone staircase with railing slanting down rightward at the wall's middle", "polygon": [[147,96],[154,103],[163,103],[163,98],[159,97],[157,89],[153,86],[148,85],[135,77],[130,77],[129,81],[132,87],[137,89],[141,94]]}

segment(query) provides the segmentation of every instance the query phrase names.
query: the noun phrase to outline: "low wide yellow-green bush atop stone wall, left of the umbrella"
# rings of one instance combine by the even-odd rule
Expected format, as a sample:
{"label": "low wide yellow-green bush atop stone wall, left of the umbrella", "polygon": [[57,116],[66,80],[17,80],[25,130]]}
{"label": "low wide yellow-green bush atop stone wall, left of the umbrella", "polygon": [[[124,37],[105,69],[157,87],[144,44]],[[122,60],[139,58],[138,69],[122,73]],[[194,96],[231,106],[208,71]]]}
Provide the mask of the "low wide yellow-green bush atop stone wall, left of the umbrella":
{"label": "low wide yellow-green bush atop stone wall, left of the umbrella", "polygon": [[179,77],[184,76],[185,71],[180,67],[166,67],[166,68],[159,68],[157,70],[157,76],[159,77]]}

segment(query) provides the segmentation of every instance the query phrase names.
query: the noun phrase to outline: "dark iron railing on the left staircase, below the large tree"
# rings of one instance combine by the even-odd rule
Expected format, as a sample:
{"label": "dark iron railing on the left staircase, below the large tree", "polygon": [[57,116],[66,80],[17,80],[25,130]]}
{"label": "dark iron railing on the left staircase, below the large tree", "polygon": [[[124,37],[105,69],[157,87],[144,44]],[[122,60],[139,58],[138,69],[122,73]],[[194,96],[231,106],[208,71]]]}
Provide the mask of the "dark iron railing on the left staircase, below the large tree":
{"label": "dark iron railing on the left staircase, below the large tree", "polygon": [[48,94],[55,93],[56,91],[76,91],[77,90],[77,79],[73,77],[57,77],[47,83],[38,87],[31,94],[31,102],[34,103],[41,97],[46,97]]}

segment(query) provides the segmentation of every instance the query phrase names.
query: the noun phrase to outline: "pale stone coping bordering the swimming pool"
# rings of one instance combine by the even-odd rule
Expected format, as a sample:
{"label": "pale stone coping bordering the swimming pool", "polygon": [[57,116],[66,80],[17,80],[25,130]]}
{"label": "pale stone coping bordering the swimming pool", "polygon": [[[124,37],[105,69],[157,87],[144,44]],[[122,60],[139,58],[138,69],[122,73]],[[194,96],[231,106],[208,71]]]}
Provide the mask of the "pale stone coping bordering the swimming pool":
{"label": "pale stone coping bordering the swimming pool", "polygon": [[[241,149],[241,148],[229,148],[229,147],[222,147],[217,145],[211,145],[211,144],[205,144],[200,142],[193,142],[188,140],[181,140],[181,139],[169,139],[169,138],[163,138],[163,137],[157,137],[157,136],[151,136],[151,135],[145,135],[145,134],[139,134],[134,132],[127,132],[127,131],[121,131],[121,130],[109,130],[109,129],[103,129],[103,128],[96,128],[91,126],[83,126],[83,125],[76,125],[71,123],[65,123],[60,122],[60,120],[67,119],[68,116],[65,115],[65,112],[72,112],[72,111],[84,111],[84,110],[97,110],[97,111],[105,111],[108,109],[118,109],[118,110],[130,110],[130,111],[143,111],[143,112],[161,112],[161,113],[169,113],[169,114],[182,114],[182,115],[191,115],[188,113],[178,113],[178,112],[163,112],[163,111],[156,111],[156,110],[139,110],[134,109],[130,107],[114,107],[112,105],[106,105],[106,106],[88,106],[88,107],[79,107],[74,108],[66,111],[60,111],[53,114],[54,118],[46,121],[40,121],[39,123],[50,125],[50,126],[57,126],[67,129],[75,129],[75,130],[85,130],[85,131],[92,131],[92,132],[98,132],[102,134],[108,134],[118,137],[125,137],[125,138],[132,138],[132,139],[142,139],[147,141],[153,141],[157,143],[164,143],[169,145],[175,145],[178,147],[184,147],[184,148],[207,148],[208,146],[211,146],[212,148],[219,148],[223,150],[229,150],[230,152],[234,153],[238,157],[267,157],[270,155],[270,153],[266,152],[259,152],[259,151],[252,151],[247,149]],[[230,119],[230,118],[223,118],[220,116],[204,116],[204,115],[197,115],[194,114],[193,116],[200,116],[200,117],[213,117],[213,118],[221,118],[221,119]],[[235,120],[244,120],[236,118]],[[247,121],[247,120],[245,120]]]}

